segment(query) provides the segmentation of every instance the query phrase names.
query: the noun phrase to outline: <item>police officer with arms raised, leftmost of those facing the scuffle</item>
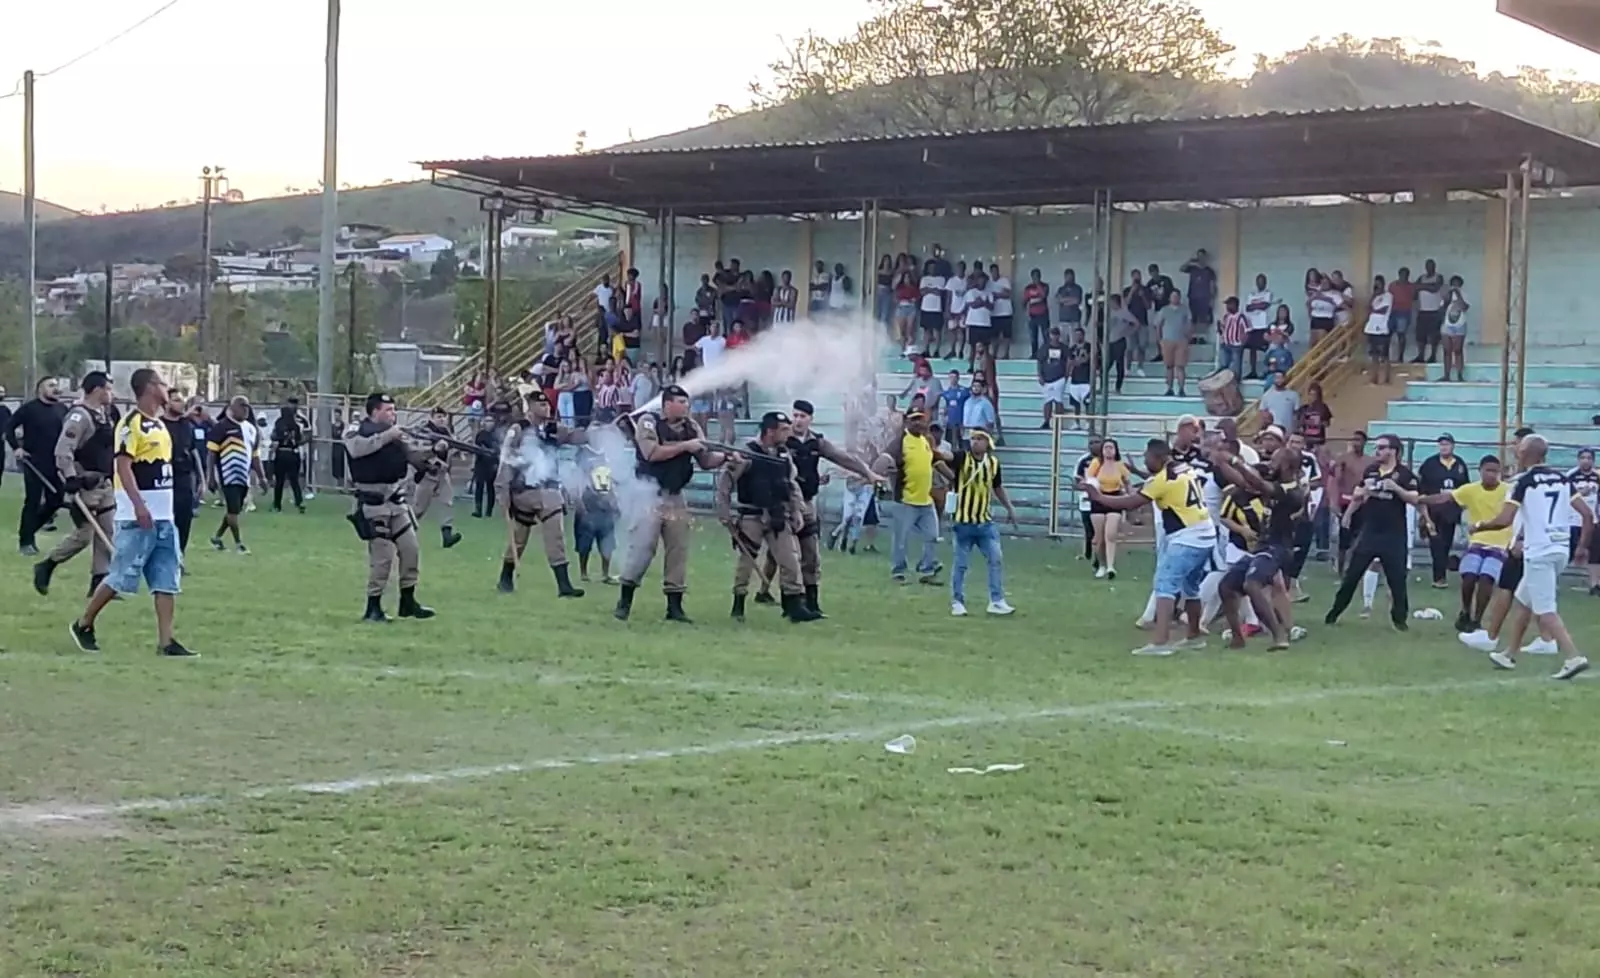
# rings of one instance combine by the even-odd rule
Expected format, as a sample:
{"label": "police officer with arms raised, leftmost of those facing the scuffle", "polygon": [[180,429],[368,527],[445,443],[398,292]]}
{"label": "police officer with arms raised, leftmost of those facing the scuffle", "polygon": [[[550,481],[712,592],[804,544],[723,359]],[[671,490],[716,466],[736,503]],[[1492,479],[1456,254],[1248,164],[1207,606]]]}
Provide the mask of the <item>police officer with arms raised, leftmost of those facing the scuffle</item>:
{"label": "police officer with arms raised, leftmost of those facing the scuffle", "polygon": [[366,395],[366,419],[344,435],[344,451],[355,495],[349,520],[355,535],[366,541],[366,615],[362,618],[389,621],[384,589],[397,563],[400,616],[432,618],[434,610],[416,600],[421,552],[416,519],[405,499],[411,466],[424,464],[427,453],[406,445],[405,429],[395,424],[395,402],[382,392]]}

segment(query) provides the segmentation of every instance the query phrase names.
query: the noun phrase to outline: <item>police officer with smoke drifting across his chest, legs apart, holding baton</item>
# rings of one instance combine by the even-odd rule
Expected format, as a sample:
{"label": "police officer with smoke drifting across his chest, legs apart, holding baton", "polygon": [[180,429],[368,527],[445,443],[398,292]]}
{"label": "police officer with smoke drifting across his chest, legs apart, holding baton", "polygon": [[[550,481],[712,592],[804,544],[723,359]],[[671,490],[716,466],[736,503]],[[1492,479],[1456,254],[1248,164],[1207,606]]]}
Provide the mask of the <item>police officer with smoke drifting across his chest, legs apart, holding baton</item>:
{"label": "police officer with smoke drifting across his chest, legs apart, holding baton", "polygon": [[562,519],[566,501],[562,496],[555,453],[562,445],[582,445],[587,435],[550,418],[550,399],[531,384],[523,391],[522,403],[523,418],[506,431],[501,466],[494,479],[494,491],[506,499],[506,517],[510,522],[499,589],[504,594],[517,589],[517,567],[522,563],[528,536],[538,527],[539,539],[544,543],[544,559],[550,562],[550,571],[555,575],[555,594],[582,597],[584,591],[573,587],[566,570]]}

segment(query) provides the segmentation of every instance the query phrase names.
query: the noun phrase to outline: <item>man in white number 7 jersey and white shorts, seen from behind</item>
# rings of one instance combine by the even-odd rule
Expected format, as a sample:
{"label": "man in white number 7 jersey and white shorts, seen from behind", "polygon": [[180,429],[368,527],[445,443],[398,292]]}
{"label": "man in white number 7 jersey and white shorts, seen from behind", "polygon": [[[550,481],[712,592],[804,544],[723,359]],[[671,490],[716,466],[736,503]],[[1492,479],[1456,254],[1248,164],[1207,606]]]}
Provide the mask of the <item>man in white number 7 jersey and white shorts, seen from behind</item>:
{"label": "man in white number 7 jersey and white shorts, seen from behind", "polygon": [[1562,571],[1566,570],[1566,549],[1573,525],[1579,525],[1579,549],[1589,544],[1594,533],[1594,511],[1574,491],[1566,472],[1544,464],[1549,445],[1542,435],[1530,434],[1517,445],[1517,461],[1522,474],[1512,485],[1510,499],[1493,520],[1472,523],[1470,533],[1522,527],[1523,575],[1517,584],[1510,629],[1504,647],[1490,653],[1490,661],[1499,669],[1517,667],[1517,650],[1528,634],[1528,624],[1536,616],[1541,629],[1549,629],[1557,648],[1566,656],[1552,679],[1573,679],[1589,669],[1589,659],[1573,645],[1555,597],[1560,591]]}

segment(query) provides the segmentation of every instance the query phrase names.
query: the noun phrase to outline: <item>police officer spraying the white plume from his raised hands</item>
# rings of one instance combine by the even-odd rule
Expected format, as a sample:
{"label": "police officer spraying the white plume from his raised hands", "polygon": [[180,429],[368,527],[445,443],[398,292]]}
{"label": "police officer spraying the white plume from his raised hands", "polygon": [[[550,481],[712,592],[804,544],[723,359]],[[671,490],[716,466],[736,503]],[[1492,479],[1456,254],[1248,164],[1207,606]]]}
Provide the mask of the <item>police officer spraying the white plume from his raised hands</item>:
{"label": "police officer spraying the white plume from his raised hands", "polygon": [[677,384],[661,392],[659,415],[646,411],[634,421],[638,477],[653,480],[659,496],[629,531],[622,592],[613,611],[621,621],[627,621],[634,610],[634,592],[656,559],[658,544],[666,549],[661,589],[667,595],[667,621],[690,621],[683,613],[683,589],[690,570],[690,506],[683,499],[683,487],[694,477],[696,463],[702,469],[715,469],[726,461],[720,451],[706,448],[702,439],[699,424],[690,418],[690,394]]}

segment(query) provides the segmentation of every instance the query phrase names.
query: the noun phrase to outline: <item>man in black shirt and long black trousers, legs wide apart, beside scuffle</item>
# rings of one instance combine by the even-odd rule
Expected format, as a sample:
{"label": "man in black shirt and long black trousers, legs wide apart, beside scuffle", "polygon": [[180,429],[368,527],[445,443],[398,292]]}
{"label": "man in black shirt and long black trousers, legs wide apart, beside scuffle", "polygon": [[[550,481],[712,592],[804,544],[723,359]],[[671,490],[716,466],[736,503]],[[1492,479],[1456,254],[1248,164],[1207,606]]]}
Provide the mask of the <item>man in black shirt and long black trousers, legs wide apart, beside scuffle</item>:
{"label": "man in black shirt and long black trousers, legs wide apart, beside scuffle", "polygon": [[1360,514],[1360,535],[1350,547],[1350,560],[1344,567],[1344,578],[1339,581],[1339,594],[1333,597],[1328,608],[1328,624],[1339,621],[1339,615],[1350,607],[1355,589],[1362,584],[1362,575],[1373,562],[1382,567],[1389,581],[1390,608],[1389,618],[1395,631],[1406,631],[1406,616],[1411,613],[1406,599],[1406,551],[1410,535],[1406,533],[1406,509],[1414,506],[1419,495],[1418,480],[1411,469],[1400,464],[1400,439],[1397,435],[1378,437],[1378,456],[1373,464],[1362,472],[1362,480],[1350,495],[1350,507],[1344,511],[1346,525]]}

